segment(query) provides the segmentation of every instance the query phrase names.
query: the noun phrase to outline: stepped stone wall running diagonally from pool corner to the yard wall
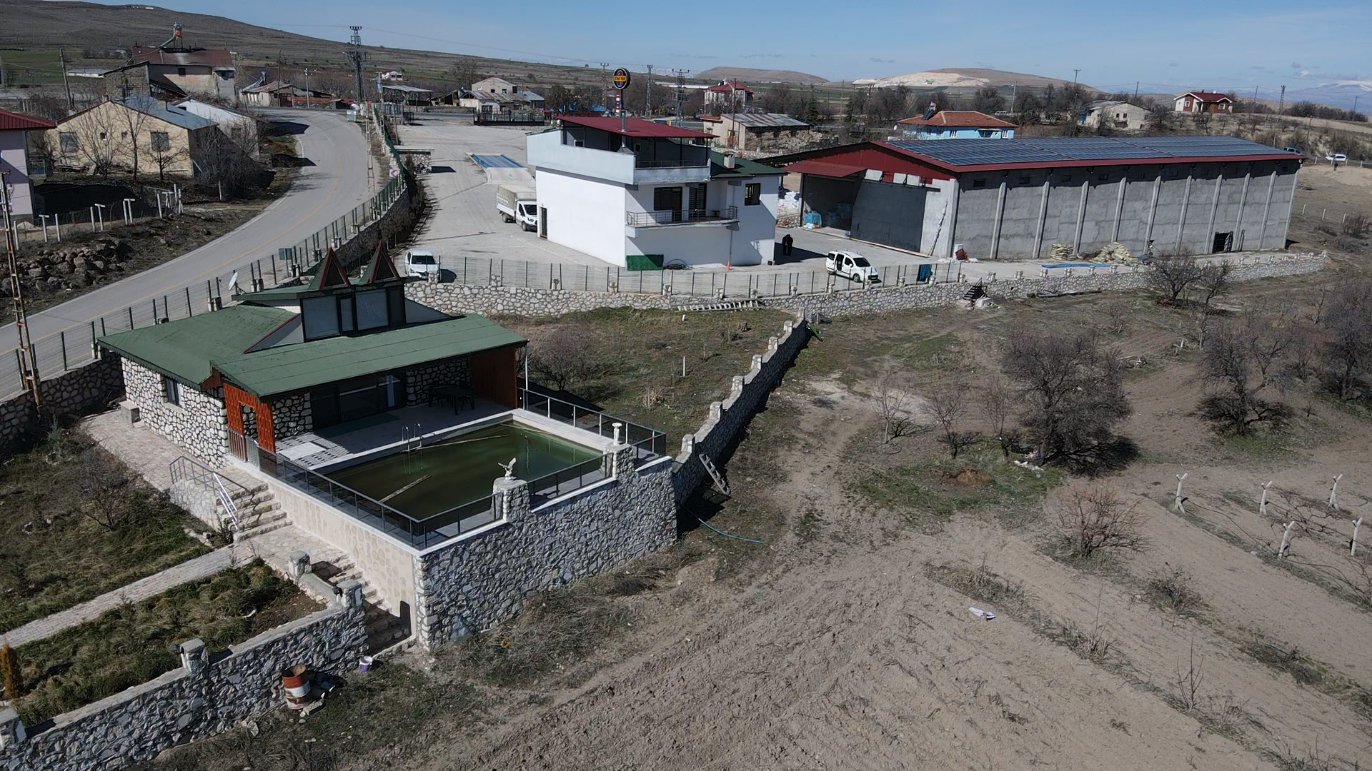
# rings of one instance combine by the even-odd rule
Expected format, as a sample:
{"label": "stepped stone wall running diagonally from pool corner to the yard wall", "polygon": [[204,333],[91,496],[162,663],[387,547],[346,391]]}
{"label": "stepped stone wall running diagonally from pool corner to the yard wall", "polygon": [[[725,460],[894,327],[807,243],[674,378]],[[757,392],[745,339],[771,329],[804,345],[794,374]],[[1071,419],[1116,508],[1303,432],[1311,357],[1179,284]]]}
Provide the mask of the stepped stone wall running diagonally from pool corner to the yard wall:
{"label": "stepped stone wall running diagonally from pool corner to the yard wall", "polygon": [[[966,289],[963,289],[966,291]],[[809,327],[804,321],[786,321],[781,335],[767,339],[767,353],[753,354],[753,364],[745,375],[735,375],[729,398],[711,402],[709,417],[696,431],[682,436],[682,451],[676,455],[672,486],[678,505],[685,503],[701,483],[709,479],[700,458],[705,453],[715,465],[722,465],[733,453],[734,439],[753,413],[767,401],[782,375],[809,340]]]}

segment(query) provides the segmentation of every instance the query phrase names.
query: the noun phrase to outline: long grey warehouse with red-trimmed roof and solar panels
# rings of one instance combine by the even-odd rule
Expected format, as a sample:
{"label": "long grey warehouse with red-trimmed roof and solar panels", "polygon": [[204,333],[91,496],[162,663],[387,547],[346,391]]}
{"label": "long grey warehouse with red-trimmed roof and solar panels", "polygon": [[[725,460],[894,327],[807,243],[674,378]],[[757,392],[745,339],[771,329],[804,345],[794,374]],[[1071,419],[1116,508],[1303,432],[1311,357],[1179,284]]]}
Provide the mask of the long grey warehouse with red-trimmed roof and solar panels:
{"label": "long grey warehouse with red-trimmed roof and solar panels", "polygon": [[1286,247],[1302,156],[1233,137],[868,141],[767,159],[853,239],[934,257]]}

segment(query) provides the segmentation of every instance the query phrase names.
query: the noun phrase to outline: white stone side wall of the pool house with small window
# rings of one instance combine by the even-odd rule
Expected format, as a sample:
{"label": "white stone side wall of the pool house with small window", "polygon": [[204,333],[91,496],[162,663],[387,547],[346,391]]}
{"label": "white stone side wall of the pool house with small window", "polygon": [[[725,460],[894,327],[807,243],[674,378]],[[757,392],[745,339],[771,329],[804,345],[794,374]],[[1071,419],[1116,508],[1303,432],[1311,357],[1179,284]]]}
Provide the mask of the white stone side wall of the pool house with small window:
{"label": "white stone side wall of the pool house with small window", "polygon": [[229,413],[224,406],[222,388],[204,394],[182,383],[181,403],[173,405],[166,399],[159,372],[125,359],[123,392],[125,399],[139,407],[148,428],[211,466],[224,462],[229,442]]}

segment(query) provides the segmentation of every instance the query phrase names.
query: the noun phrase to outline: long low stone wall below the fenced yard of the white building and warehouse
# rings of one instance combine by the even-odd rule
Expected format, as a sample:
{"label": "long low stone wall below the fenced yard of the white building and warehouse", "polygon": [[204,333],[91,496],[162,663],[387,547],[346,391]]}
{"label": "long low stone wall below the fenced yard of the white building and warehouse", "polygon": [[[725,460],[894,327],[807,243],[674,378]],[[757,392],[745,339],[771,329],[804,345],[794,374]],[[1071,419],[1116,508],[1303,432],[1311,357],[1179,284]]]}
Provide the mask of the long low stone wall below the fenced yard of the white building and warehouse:
{"label": "long low stone wall below the fenced yard of the white building and warehouse", "polygon": [[[1324,269],[1327,254],[1273,255],[1255,263],[1233,265],[1232,280],[1250,281],[1275,276],[1297,276]],[[1013,268],[1013,266],[1008,266]],[[1102,291],[1129,291],[1148,285],[1147,269],[1081,269],[1072,276],[1025,276],[984,283],[986,292],[1003,298],[1052,296]],[[937,307],[958,302],[970,283],[907,284],[868,289],[763,296],[760,305],[789,307],[797,311],[822,310],[831,316],[859,316],[919,307]],[[709,298],[660,295],[649,292],[584,292],[578,289],[532,289],[525,287],[479,287],[440,284],[436,278],[405,287],[409,299],[443,313],[482,313],[486,316],[556,317],[602,307],[635,310],[676,310],[683,306],[708,305]],[[735,298],[730,298],[735,302]]]}

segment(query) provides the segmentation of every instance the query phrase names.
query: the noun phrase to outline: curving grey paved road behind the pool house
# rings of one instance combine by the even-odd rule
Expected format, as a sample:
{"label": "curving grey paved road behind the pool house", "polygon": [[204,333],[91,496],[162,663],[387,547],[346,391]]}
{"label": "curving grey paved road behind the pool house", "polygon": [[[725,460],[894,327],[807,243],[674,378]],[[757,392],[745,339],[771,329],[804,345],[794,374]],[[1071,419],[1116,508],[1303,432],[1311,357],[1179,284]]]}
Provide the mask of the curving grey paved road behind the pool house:
{"label": "curving grey paved road behind the pool house", "polygon": [[[296,244],[372,195],[366,178],[366,139],[340,112],[262,112],[269,119],[306,126],[296,139],[299,154],[313,166],[300,169],[285,196],[240,228],[192,252],[30,316],[33,340],[75,328],[84,333],[86,325],[103,314],[172,295],[214,276],[226,276],[252,258]],[[0,346],[3,351],[16,346],[12,322],[0,328]]]}

